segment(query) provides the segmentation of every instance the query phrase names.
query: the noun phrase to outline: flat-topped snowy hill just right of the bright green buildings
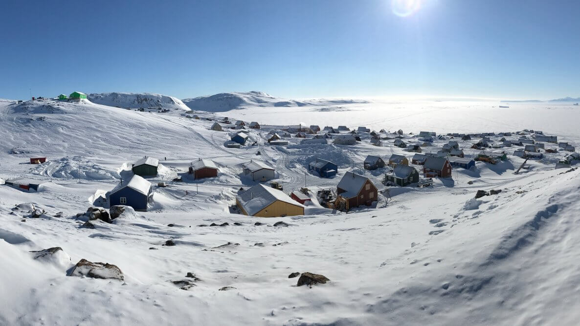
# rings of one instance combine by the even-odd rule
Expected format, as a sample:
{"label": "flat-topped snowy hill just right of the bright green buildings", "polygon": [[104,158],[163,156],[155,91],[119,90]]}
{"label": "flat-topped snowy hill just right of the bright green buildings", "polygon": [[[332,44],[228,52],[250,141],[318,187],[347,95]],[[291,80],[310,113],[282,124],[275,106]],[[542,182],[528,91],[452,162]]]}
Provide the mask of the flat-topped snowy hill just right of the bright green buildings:
{"label": "flat-topped snowy hill just right of the bright green buildings", "polygon": [[147,108],[161,107],[173,110],[189,110],[176,97],[153,93],[92,93],[86,96],[90,102],[112,107]]}

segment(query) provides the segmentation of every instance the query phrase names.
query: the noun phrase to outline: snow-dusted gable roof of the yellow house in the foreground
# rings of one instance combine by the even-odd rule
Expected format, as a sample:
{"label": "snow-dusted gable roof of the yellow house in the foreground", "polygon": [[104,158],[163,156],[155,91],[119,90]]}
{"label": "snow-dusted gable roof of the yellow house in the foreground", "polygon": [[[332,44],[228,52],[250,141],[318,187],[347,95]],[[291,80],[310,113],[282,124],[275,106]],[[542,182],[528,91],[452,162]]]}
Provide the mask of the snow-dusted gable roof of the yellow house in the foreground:
{"label": "snow-dusted gable roof of the yellow house in the foreground", "polygon": [[282,201],[302,208],[304,207],[304,205],[292,200],[292,198],[288,197],[288,195],[282,191],[266,187],[263,184],[256,184],[239,194],[236,198],[242,208],[244,208],[244,211],[250,216],[262,211],[262,209],[276,201]]}

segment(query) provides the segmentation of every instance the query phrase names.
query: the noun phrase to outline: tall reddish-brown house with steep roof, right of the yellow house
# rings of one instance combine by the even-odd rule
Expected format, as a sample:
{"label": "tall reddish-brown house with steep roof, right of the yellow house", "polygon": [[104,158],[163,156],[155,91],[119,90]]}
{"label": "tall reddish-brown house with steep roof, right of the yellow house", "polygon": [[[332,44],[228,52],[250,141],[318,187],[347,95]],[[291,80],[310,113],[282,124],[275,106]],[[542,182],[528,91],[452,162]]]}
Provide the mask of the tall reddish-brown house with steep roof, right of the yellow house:
{"label": "tall reddish-brown house with steep roof, right of the yellow house", "polygon": [[364,176],[353,172],[346,172],[336,186],[336,209],[349,211],[350,208],[360,205],[370,206],[372,202],[378,200],[378,189]]}

